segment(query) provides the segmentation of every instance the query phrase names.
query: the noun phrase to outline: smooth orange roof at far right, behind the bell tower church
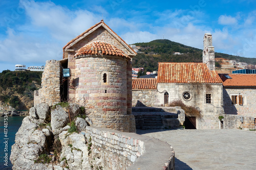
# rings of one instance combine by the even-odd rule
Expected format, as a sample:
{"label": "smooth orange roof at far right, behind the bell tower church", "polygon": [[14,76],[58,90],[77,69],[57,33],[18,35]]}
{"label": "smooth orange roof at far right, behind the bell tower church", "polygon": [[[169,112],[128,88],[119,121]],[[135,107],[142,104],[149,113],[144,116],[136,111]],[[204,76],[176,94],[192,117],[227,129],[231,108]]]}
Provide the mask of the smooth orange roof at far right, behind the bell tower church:
{"label": "smooth orange roof at far right, behind the bell tower church", "polygon": [[[226,78],[230,76],[232,79]],[[256,86],[256,74],[219,74],[223,86]]]}

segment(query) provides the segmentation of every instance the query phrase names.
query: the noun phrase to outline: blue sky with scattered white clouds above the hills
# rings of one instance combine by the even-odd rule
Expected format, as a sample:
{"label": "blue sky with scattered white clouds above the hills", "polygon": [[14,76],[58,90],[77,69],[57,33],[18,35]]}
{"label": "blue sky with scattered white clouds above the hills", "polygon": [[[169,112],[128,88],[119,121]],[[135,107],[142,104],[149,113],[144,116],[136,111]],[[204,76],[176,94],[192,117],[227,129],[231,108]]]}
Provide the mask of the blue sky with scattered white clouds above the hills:
{"label": "blue sky with scattered white clouds above the hills", "polygon": [[62,47],[102,18],[128,44],[155,39],[256,58],[254,0],[0,2],[0,71],[62,59]]}

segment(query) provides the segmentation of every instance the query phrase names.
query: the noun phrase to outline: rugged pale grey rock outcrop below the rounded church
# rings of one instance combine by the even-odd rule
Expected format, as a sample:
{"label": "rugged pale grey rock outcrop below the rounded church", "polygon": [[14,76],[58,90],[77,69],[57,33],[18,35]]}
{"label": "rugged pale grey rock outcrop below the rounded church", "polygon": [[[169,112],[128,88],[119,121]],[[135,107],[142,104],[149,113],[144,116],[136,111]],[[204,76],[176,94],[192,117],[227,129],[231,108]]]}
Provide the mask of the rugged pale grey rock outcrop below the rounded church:
{"label": "rugged pale grey rock outcrop below the rounded church", "polygon": [[[71,106],[71,112],[77,113],[79,107]],[[23,119],[12,145],[10,160],[13,169],[93,169],[85,133],[69,132],[72,126],[68,126],[69,113],[65,110],[57,105],[50,111],[46,103],[30,109],[30,115]],[[90,119],[88,121],[91,123]],[[90,125],[80,117],[74,122],[79,132]],[[57,153],[56,147],[61,148],[61,152]]]}

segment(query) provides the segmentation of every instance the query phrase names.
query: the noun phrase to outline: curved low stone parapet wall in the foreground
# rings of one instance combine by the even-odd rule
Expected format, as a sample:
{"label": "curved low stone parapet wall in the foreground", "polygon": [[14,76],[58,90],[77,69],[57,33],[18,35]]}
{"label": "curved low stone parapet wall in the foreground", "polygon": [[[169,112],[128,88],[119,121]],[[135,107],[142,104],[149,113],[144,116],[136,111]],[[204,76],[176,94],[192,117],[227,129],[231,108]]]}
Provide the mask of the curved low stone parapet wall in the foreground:
{"label": "curved low stone parapet wall in the foreground", "polygon": [[87,127],[87,135],[104,169],[175,169],[174,151],[166,142],[99,127]]}

